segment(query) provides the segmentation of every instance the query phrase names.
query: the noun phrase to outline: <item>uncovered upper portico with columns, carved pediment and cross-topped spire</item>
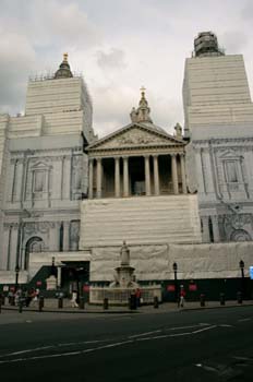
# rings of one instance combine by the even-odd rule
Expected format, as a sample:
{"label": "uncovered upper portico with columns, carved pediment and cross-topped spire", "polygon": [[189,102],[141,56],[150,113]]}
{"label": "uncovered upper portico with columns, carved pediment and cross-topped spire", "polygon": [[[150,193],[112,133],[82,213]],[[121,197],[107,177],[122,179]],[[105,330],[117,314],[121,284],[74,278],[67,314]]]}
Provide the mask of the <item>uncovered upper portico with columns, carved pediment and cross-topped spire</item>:
{"label": "uncovered upper portico with columns, carved pediment and cross-topped spire", "polygon": [[170,135],[149,112],[142,91],[132,123],[87,147],[89,199],[186,194],[182,129]]}

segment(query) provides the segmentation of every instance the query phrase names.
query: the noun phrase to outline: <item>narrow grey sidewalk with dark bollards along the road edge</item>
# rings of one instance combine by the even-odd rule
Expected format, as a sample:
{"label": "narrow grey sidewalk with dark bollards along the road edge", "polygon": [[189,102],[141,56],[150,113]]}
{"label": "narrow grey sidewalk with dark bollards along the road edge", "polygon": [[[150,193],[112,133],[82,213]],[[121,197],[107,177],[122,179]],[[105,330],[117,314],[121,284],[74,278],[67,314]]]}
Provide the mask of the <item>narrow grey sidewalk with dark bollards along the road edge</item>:
{"label": "narrow grey sidewalk with dark bollards along the road edge", "polygon": [[[201,307],[200,301],[194,302],[185,302],[183,308],[178,308],[178,303],[176,302],[164,302],[160,303],[157,309],[150,306],[143,306],[137,308],[136,310],[130,310],[129,307],[113,307],[109,305],[108,309],[104,309],[103,306],[93,306],[85,303],[84,309],[72,308],[71,301],[69,299],[63,300],[63,307],[58,308],[57,299],[45,299],[45,305],[43,308],[43,312],[55,312],[55,313],[104,313],[104,314],[125,314],[125,313],[166,313],[166,312],[174,312],[174,311],[189,311],[189,310],[204,310],[204,309],[225,309],[232,307],[246,307],[253,306],[252,300],[243,301],[242,303],[238,303],[238,301],[226,301],[225,306],[220,306],[219,301],[206,301],[204,307]],[[12,307],[10,305],[4,305],[1,307],[2,310],[16,311],[19,312],[19,307]],[[31,305],[28,308],[23,307],[23,311],[29,312],[38,312],[38,303]]]}

